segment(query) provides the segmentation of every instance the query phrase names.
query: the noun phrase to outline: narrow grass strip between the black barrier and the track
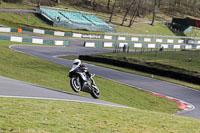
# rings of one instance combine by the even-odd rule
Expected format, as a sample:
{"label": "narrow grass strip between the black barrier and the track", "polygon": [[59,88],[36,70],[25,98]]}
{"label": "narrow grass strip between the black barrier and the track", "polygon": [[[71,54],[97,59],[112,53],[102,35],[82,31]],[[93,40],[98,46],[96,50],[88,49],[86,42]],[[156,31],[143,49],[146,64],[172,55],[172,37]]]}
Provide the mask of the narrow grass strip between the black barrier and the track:
{"label": "narrow grass strip between the black barrier and the track", "polygon": [[[77,59],[78,56],[62,56],[60,58],[74,60],[74,59]],[[136,71],[136,70],[133,70],[133,69],[122,68],[122,67],[117,67],[117,66],[103,64],[103,63],[97,63],[97,62],[91,62],[91,61],[83,61],[83,62],[89,63],[89,64],[94,64],[94,65],[97,65],[97,66],[110,68],[110,69],[115,69],[115,70],[122,71],[122,72],[127,72],[127,73],[132,73],[132,74],[137,74],[137,75],[141,75],[141,76],[146,76],[146,77],[152,78],[152,74],[139,72],[139,71]],[[200,90],[200,85],[187,83],[187,82],[183,82],[183,81],[180,81],[180,80],[175,80],[175,79],[162,77],[162,76],[158,76],[158,75],[154,75],[154,78],[155,79],[159,79],[159,80],[163,80],[163,81],[167,81],[167,82],[171,82],[171,83],[175,83],[175,84],[179,84],[179,85],[183,85],[183,86],[190,87],[190,88],[193,88],[193,89],[196,89],[196,90]]]}

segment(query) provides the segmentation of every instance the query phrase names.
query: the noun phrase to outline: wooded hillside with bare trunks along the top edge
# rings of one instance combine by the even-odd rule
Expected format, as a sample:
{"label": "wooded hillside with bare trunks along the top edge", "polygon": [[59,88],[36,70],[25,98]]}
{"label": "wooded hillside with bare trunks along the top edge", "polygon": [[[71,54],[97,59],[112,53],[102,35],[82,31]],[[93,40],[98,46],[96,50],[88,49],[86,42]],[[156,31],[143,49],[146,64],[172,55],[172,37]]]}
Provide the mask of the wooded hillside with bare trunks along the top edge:
{"label": "wooded hillside with bare trunks along the top edge", "polygon": [[[1,1],[1,0],[0,0]],[[121,25],[128,23],[131,27],[137,17],[145,17],[152,14],[152,23],[159,12],[173,16],[190,15],[200,16],[199,0],[3,0],[5,2],[24,2],[40,3],[41,5],[55,6],[57,3],[68,2],[74,6],[83,6],[99,12],[110,13],[109,22],[112,22],[113,15],[120,14]]]}

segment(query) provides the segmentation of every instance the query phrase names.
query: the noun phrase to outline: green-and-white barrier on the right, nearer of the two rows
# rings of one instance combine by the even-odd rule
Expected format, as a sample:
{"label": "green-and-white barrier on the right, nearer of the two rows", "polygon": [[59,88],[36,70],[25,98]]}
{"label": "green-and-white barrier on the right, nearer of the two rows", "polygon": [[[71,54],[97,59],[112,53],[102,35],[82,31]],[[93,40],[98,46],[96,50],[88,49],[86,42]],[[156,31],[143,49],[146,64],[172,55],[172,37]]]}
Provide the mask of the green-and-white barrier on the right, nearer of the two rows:
{"label": "green-and-white barrier on the right, nearer of the two rows", "polygon": [[130,42],[85,42],[85,47],[124,47],[132,48],[165,48],[165,49],[200,49],[200,45],[187,44],[156,44],[156,43],[130,43]]}

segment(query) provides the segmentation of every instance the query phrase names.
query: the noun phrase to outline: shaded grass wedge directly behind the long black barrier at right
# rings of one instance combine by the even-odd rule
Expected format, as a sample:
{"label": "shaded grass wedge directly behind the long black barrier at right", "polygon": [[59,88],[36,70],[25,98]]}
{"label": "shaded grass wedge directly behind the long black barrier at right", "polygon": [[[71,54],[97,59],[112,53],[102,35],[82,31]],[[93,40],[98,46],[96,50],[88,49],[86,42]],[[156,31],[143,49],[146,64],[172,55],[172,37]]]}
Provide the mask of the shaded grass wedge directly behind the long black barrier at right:
{"label": "shaded grass wedge directly behind the long black barrier at right", "polygon": [[[176,67],[181,70],[200,72],[200,51],[104,53],[96,56],[107,56],[108,58],[120,59],[130,63],[137,62],[146,65],[149,63],[151,66],[171,70],[173,70],[173,67]],[[190,57],[192,57],[191,62],[188,61]],[[160,64],[164,64],[164,66]]]}

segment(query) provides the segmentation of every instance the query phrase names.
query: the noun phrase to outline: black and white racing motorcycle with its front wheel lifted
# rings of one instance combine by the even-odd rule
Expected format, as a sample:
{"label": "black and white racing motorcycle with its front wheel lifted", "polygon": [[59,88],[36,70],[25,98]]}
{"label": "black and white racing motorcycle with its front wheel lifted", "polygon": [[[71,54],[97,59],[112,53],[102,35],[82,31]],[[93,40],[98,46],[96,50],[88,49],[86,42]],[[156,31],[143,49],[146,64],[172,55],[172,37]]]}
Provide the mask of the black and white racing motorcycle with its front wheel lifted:
{"label": "black and white racing motorcycle with its front wheel lifted", "polygon": [[93,98],[98,99],[100,97],[100,90],[94,81],[95,74],[88,76],[86,71],[85,69],[79,68],[72,68],[69,71],[71,88],[75,92],[89,92]]}

